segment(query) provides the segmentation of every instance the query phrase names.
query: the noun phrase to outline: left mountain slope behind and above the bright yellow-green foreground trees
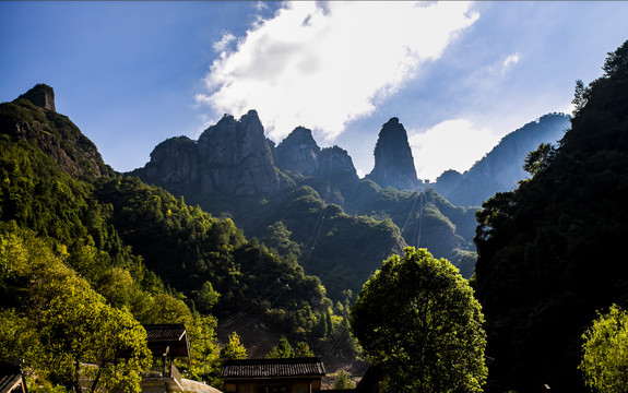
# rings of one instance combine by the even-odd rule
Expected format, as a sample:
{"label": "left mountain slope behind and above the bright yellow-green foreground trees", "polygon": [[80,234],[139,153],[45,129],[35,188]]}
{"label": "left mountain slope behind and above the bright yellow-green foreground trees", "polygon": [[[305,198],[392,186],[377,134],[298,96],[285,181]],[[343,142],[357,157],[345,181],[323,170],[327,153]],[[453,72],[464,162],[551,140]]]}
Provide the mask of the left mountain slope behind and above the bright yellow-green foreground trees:
{"label": "left mountain slope behind and above the bright yellow-green foreground trees", "polygon": [[[51,109],[25,98],[3,103],[0,124],[0,224],[36,231],[116,307],[145,323],[189,322],[194,309],[224,319],[241,311],[324,348],[319,325],[333,314],[332,302],[294,259],[247,239],[230,219],[114,174]],[[212,287],[215,306],[201,296]]]}

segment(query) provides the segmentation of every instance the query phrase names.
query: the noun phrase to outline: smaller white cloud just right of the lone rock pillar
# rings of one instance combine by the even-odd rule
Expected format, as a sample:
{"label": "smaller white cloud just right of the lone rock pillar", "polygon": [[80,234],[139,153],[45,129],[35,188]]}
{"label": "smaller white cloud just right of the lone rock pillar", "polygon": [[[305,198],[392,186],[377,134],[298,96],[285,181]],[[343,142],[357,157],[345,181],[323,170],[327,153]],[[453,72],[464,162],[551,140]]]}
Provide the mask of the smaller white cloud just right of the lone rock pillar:
{"label": "smaller white cloud just right of the lone rock pillar", "polygon": [[446,120],[425,132],[408,134],[417,176],[431,181],[448,169],[465,171],[501,138],[469,119]]}

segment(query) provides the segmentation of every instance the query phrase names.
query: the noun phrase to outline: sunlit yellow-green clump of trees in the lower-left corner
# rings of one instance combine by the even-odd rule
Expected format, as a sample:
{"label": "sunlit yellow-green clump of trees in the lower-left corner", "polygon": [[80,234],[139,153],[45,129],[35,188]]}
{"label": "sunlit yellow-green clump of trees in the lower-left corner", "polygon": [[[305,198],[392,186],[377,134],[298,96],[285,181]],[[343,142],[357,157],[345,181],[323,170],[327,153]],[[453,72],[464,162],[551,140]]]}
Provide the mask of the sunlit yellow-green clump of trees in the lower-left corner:
{"label": "sunlit yellow-green clump of trees in the lower-left corner", "polygon": [[91,392],[140,391],[140,371],[152,356],[146,332],[129,311],[107,305],[33,233],[0,235],[0,265],[11,272],[3,286],[16,285],[20,305],[20,315],[2,311],[14,322],[0,326],[3,341],[12,330],[20,338],[16,349],[24,353],[14,358],[75,392],[85,381]]}

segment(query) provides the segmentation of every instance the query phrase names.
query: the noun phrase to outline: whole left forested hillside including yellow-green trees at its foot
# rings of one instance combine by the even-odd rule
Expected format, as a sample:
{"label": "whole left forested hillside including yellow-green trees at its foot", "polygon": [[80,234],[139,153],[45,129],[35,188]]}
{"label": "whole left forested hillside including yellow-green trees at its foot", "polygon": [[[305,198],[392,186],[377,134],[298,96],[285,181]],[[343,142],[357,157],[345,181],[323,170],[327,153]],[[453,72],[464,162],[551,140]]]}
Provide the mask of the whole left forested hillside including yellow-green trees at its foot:
{"label": "whole left forested hillside including yellow-green trees at its foot", "polygon": [[[52,90],[0,104],[0,360],[24,359],[31,374],[75,389],[86,376],[74,361],[109,365],[119,355],[92,350],[108,345],[98,344],[104,332],[125,324],[134,360],[114,364],[138,370],[150,362],[140,323],[185,322],[192,360],[181,369],[216,382],[215,317],[234,329],[242,315],[318,354],[335,345],[354,356],[346,310],[294,258],[115,174],[54,100],[34,104],[42,96]],[[106,389],[138,382],[111,378]]]}

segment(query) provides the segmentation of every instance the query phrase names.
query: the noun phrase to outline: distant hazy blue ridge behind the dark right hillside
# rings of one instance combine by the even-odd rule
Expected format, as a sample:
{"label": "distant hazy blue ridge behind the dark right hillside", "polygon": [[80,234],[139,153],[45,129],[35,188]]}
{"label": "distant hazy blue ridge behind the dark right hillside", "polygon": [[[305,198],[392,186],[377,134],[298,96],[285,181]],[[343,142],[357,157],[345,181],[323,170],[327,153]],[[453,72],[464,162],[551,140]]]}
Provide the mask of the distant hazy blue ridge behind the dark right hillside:
{"label": "distant hazy blue ridge behind the dark right hillside", "polygon": [[523,163],[529,152],[541,143],[555,144],[570,127],[569,117],[549,114],[503,136],[484,158],[464,174],[443,172],[435,190],[451,203],[462,206],[482,205],[496,192],[510,191],[526,178]]}

